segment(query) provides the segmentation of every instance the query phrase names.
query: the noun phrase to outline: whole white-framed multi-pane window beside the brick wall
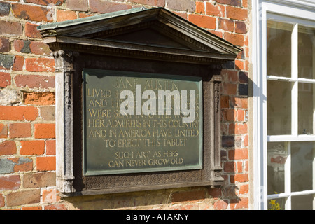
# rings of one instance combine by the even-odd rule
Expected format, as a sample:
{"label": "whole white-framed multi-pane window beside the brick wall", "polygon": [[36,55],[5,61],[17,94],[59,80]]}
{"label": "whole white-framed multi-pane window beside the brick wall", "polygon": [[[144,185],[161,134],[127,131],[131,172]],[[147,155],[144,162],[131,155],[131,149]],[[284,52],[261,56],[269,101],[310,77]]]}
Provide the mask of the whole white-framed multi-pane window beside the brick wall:
{"label": "whole white-framed multi-pane window beside the brick wall", "polygon": [[314,210],[315,11],[274,2],[257,6],[256,209]]}

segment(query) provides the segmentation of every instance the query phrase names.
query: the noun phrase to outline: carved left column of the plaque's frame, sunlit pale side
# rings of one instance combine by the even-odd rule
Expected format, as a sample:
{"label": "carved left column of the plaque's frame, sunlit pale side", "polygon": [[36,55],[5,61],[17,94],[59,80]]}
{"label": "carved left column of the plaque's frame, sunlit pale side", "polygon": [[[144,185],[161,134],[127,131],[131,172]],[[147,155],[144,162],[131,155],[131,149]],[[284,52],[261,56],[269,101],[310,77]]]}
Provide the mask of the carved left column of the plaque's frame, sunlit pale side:
{"label": "carved left column of the plaque's frame, sunlit pale side", "polygon": [[58,50],[56,80],[56,184],[61,193],[73,193],[73,52]]}

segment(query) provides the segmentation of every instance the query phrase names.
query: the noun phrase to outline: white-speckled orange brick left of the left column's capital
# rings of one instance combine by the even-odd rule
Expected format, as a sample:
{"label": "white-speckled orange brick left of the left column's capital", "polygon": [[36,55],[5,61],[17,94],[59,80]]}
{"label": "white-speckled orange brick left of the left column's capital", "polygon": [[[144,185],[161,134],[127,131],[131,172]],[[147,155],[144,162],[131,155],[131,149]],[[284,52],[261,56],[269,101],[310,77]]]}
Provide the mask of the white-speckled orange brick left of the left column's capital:
{"label": "white-speckled orange brick left of the left column's capital", "polygon": [[55,71],[55,60],[52,58],[26,58],[27,71]]}

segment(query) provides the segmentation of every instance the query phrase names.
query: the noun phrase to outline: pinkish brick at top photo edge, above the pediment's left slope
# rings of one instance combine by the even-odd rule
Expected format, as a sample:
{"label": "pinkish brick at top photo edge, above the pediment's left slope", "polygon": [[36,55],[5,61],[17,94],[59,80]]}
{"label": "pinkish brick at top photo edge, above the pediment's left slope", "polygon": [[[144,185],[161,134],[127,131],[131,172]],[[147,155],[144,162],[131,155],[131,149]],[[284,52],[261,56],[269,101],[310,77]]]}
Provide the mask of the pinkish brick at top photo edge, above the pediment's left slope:
{"label": "pinkish brick at top photo edge, above the pediment's left slope", "polygon": [[92,13],[111,13],[130,8],[132,8],[132,6],[125,5],[123,3],[102,0],[90,0],[90,11]]}

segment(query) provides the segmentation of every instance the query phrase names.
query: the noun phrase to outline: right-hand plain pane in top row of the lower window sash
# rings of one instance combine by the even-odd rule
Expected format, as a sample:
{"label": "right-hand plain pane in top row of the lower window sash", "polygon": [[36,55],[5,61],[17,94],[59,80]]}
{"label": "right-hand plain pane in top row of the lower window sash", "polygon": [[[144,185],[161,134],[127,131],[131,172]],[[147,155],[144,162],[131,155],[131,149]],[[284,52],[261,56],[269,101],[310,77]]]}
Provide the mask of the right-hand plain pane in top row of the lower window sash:
{"label": "right-hand plain pane in top row of the lower window sash", "polygon": [[312,190],[314,142],[291,143],[291,191]]}

